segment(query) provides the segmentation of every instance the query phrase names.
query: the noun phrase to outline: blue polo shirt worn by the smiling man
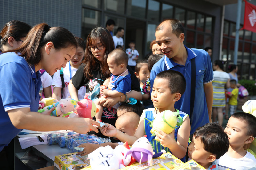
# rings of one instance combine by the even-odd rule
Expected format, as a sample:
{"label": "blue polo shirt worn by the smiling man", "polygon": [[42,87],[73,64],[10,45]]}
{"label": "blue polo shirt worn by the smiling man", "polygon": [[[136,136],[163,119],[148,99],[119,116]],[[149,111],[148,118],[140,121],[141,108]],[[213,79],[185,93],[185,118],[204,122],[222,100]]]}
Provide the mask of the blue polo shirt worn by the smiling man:
{"label": "blue polo shirt worn by the smiling man", "polygon": [[[186,90],[181,96],[180,100],[175,102],[175,109],[190,115],[190,92],[191,92],[191,62],[195,58],[196,63],[196,90],[195,102],[192,115],[191,134],[195,132],[196,128],[209,123],[209,115],[207,109],[206,98],[204,95],[204,84],[213,80],[213,70],[211,58],[205,50],[190,49],[185,46],[188,57],[186,64],[180,65],[175,63],[172,59],[164,56],[152,68],[150,73],[150,83],[153,87],[156,75],[164,70],[175,70],[182,73],[186,79]],[[151,88],[152,92],[152,88]],[[190,117],[191,118],[191,117]]]}

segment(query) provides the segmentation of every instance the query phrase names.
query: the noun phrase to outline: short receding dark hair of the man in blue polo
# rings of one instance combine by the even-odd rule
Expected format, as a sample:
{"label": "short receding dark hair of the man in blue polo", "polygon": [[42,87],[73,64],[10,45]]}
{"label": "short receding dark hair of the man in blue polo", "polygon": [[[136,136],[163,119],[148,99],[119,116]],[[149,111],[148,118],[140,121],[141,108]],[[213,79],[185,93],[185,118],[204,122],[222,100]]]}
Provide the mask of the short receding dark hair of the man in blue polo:
{"label": "short receding dark hair of the man in blue polo", "polygon": [[[178,19],[166,19],[163,22],[169,21],[172,26],[172,33],[174,33],[177,37],[180,36],[181,33],[184,33],[184,27],[182,23]],[[163,22],[161,22],[157,27],[156,31],[162,31],[164,29]]]}

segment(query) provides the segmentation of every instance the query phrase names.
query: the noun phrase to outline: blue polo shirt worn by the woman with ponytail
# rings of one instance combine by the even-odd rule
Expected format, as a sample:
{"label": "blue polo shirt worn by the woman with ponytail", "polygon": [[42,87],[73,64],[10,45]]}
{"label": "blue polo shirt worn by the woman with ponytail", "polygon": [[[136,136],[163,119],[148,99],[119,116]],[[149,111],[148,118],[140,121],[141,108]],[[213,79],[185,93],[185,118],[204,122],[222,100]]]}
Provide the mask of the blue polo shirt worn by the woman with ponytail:
{"label": "blue polo shirt worn by the woman with ponytail", "polygon": [[14,52],[0,55],[0,151],[22,130],[12,125],[7,111],[38,111],[41,79],[27,61]]}

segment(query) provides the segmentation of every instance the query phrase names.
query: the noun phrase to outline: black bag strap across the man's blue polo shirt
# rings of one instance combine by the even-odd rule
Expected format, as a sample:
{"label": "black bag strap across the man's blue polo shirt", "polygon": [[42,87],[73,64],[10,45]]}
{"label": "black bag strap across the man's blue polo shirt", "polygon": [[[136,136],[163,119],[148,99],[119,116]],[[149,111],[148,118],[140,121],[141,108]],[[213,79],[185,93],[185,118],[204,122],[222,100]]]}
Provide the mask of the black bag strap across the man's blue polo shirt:
{"label": "black bag strap across the man's blue polo shirt", "polygon": [[190,113],[189,113],[189,118],[190,118],[190,125],[192,125],[192,115],[193,115],[193,110],[194,110],[194,101],[195,101],[195,91],[196,91],[196,62],[195,58],[192,58],[190,60],[191,62],[191,89],[190,89]]}

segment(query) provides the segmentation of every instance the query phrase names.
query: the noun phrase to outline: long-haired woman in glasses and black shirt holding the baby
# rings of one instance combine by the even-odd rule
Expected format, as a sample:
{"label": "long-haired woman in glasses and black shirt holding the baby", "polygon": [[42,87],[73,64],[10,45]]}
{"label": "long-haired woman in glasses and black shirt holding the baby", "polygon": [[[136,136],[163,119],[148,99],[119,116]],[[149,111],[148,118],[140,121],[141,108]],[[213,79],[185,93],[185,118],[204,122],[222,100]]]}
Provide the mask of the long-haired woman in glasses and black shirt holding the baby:
{"label": "long-haired woman in glasses and black shirt holding the baby", "polygon": [[[90,99],[97,100],[100,94],[100,86],[110,76],[107,58],[108,54],[115,49],[110,33],[102,27],[94,28],[87,37],[86,46],[85,58],[68,86],[71,98],[75,100],[78,100],[77,91],[82,86],[86,87],[86,93],[88,93]],[[133,70],[129,66],[127,66],[127,69],[132,79],[131,92],[127,93],[127,99],[133,97],[141,100],[139,82]],[[105,108],[101,120],[115,125],[116,110],[111,107],[117,102],[126,101],[127,99],[123,95],[122,97],[107,97],[106,100],[103,100],[100,104],[103,104]]]}

